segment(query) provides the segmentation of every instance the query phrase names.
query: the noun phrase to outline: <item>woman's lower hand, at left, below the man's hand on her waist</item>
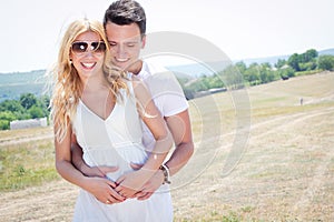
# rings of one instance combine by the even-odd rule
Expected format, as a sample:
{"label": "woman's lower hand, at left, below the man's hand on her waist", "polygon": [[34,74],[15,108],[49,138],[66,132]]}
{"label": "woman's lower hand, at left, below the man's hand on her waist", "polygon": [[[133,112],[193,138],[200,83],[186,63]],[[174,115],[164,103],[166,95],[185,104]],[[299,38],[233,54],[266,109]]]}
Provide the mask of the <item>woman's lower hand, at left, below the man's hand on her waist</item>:
{"label": "woman's lower hand, at left, below the man's hand on her waist", "polygon": [[102,203],[120,203],[126,199],[116,190],[116,183],[106,178],[87,178],[86,190]]}

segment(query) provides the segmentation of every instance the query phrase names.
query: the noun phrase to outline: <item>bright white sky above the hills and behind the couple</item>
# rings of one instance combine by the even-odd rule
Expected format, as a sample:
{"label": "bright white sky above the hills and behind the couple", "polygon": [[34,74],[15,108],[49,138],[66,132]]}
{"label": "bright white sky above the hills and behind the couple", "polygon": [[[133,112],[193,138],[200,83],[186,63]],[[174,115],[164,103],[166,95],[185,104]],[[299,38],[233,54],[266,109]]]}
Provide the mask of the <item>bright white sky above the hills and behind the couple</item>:
{"label": "bright white sky above the hills and behind the couple", "polygon": [[[112,0],[10,0],[0,8],[0,73],[48,69],[66,26],[102,20]],[[138,0],[147,33],[203,38],[230,60],[334,48],[333,0]],[[176,42],[177,43],[177,42]],[[196,46],[194,46],[196,48]]]}

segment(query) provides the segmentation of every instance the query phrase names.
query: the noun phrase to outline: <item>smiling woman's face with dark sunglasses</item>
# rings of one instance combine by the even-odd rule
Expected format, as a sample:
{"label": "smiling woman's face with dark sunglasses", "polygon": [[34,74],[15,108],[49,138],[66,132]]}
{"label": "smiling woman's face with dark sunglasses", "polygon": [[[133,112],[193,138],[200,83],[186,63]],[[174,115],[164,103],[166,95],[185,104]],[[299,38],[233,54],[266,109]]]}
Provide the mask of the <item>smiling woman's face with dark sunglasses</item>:
{"label": "smiling woman's face with dark sunglasses", "polygon": [[87,31],[71,44],[70,59],[81,80],[102,73],[106,44],[98,33]]}

